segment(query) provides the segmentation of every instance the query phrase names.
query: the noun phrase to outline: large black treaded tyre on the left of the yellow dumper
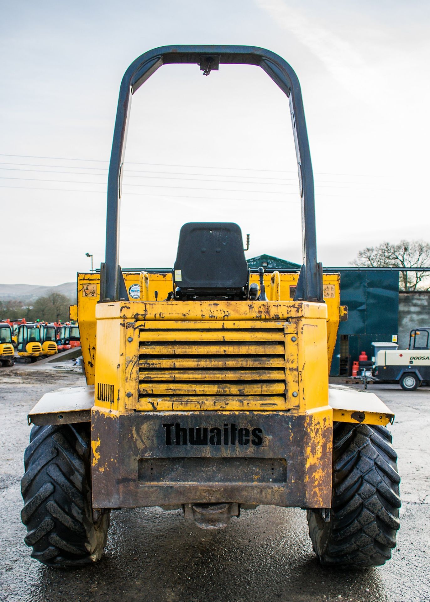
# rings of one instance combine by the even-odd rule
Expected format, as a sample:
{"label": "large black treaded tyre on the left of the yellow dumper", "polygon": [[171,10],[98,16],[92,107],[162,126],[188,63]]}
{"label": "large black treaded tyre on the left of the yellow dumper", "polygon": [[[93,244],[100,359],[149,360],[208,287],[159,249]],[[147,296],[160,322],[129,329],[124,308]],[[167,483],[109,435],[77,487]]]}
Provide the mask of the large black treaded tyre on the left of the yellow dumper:
{"label": "large black treaded tyre on the left of the yellow dumper", "polygon": [[21,480],[21,518],[31,556],[45,565],[96,562],[106,545],[109,510],[93,514],[89,442],[88,423],[31,430]]}

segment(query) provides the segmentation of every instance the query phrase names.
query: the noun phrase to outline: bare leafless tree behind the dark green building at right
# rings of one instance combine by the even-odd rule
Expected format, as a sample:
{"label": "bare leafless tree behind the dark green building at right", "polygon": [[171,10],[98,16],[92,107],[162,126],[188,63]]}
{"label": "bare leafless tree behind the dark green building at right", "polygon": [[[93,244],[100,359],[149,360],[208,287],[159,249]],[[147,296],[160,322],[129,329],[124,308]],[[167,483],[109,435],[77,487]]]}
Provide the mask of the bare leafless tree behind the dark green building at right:
{"label": "bare leafless tree behind the dark green building at right", "polygon": [[[430,267],[430,244],[423,240],[401,240],[398,244],[382,243],[376,247],[366,247],[358,252],[351,265],[358,267],[413,267],[416,272],[399,272],[399,288],[402,291],[415,291],[428,272],[419,268]],[[423,287],[429,290],[430,287]]]}

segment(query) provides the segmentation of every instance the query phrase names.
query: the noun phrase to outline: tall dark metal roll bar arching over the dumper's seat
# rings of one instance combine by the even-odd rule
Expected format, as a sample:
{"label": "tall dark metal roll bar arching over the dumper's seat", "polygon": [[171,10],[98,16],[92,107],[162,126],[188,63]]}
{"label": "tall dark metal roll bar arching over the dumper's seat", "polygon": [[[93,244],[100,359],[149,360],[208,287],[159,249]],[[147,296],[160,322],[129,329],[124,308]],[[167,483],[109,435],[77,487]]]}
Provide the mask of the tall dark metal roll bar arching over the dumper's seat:
{"label": "tall dark metal roll bar arching over the dumper's seat", "polygon": [[132,95],[165,64],[194,63],[204,75],[220,64],[261,67],[289,99],[301,197],[303,265],[295,299],[323,301],[322,265],[316,259],[315,199],[309,140],[300,84],[292,67],[274,52],[253,46],[162,46],[138,57],[121,81],[108,175],[106,259],[100,267],[100,301],[128,299],[119,265],[121,180]]}

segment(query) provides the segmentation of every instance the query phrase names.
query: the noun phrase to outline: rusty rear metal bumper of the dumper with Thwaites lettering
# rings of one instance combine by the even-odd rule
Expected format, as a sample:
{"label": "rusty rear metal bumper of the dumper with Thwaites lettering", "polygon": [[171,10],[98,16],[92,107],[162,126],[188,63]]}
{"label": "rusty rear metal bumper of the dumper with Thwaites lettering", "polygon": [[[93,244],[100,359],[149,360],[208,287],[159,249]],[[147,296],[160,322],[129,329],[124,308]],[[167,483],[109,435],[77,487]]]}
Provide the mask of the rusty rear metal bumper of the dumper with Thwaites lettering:
{"label": "rusty rear metal bumper of the dumper with Thwaites lettering", "polygon": [[93,506],[331,506],[332,411],[91,410]]}

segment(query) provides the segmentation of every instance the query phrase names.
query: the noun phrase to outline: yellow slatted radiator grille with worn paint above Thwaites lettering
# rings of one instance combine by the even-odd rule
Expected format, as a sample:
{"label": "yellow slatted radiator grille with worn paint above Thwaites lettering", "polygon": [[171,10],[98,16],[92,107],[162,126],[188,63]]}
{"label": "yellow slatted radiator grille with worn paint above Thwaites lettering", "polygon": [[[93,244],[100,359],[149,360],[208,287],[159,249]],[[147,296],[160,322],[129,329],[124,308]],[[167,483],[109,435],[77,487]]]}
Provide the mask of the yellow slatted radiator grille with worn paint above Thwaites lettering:
{"label": "yellow slatted radiator grille with worn paint above Thwaites lettering", "polygon": [[140,329],[138,403],[286,404],[284,329]]}

